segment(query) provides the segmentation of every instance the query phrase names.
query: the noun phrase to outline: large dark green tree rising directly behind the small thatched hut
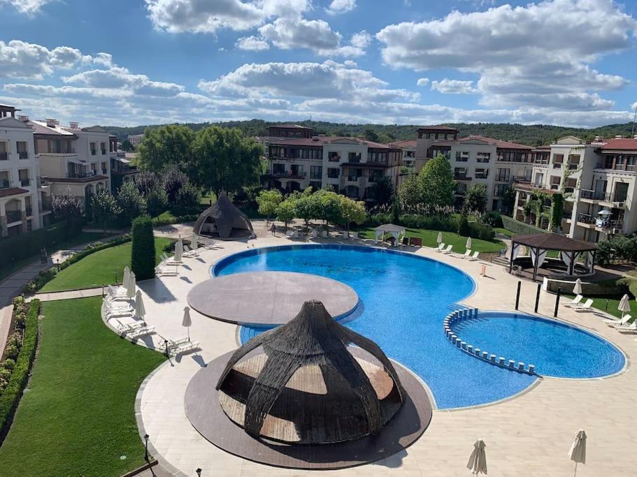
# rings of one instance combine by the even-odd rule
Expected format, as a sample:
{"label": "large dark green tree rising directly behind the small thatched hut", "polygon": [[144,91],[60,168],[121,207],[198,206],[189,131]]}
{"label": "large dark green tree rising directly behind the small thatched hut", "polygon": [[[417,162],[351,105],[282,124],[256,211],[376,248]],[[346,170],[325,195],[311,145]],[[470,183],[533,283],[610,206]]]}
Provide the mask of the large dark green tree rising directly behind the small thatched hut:
{"label": "large dark green tree rising directly behind the small thatched hut", "polygon": [[262,154],[263,147],[238,129],[208,126],[193,142],[189,177],[217,196],[235,193],[259,180]]}

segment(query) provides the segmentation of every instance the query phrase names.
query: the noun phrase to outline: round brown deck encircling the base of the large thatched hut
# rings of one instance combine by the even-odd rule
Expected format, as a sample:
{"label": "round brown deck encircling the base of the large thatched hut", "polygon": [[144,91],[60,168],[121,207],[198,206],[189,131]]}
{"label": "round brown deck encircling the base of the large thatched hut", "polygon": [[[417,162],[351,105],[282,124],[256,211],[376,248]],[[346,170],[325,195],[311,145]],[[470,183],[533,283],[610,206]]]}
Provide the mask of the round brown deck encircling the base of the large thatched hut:
{"label": "round brown deck encircling the base of the large thatched hut", "polygon": [[[364,352],[352,348],[364,358]],[[193,427],[206,440],[228,453],[261,464],[288,469],[345,469],[384,459],[413,444],[431,421],[431,402],[420,381],[394,362],[407,398],[377,436],[329,444],[289,445],[250,437],[224,413],[215,384],[232,353],[208,362],[186,389],[185,411]]]}

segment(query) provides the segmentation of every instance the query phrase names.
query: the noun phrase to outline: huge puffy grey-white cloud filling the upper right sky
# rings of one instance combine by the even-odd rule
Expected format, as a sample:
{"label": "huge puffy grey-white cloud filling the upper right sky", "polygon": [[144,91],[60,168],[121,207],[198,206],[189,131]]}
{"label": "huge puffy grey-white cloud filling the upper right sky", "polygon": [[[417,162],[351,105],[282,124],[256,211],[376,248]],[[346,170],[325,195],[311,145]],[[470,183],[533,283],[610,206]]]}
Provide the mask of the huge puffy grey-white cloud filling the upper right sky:
{"label": "huge puffy grey-white cloud filling the upper right sky", "polygon": [[636,29],[637,21],[612,0],[552,0],[393,24],[376,38],[394,67],[478,73],[483,105],[517,106],[543,95],[538,103],[554,98],[556,109],[590,110],[610,108],[597,92],[628,80],[589,64],[631,46]]}

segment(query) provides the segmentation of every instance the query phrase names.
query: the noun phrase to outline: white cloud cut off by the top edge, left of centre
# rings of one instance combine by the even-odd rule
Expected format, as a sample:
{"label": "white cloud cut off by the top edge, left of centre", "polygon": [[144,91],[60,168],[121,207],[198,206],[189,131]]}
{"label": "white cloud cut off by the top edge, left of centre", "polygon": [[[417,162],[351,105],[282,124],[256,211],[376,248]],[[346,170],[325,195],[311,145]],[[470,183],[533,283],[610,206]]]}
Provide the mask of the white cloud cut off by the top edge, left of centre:
{"label": "white cloud cut off by the top edge, left of centre", "polygon": [[245,31],[272,17],[298,16],[310,8],[308,0],[145,0],[156,29],[170,33]]}

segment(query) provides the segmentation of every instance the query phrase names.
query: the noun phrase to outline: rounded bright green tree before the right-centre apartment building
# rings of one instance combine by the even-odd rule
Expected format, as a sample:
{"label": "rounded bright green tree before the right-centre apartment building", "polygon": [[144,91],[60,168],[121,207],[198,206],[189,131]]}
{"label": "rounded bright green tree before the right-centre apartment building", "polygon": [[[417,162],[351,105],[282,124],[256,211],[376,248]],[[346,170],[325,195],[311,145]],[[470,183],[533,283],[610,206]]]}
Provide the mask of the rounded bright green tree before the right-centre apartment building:
{"label": "rounded bright green tree before the right-centre apartment building", "polygon": [[429,212],[437,212],[453,204],[456,184],[451,165],[445,156],[438,155],[427,161],[418,175],[418,184],[422,202]]}

